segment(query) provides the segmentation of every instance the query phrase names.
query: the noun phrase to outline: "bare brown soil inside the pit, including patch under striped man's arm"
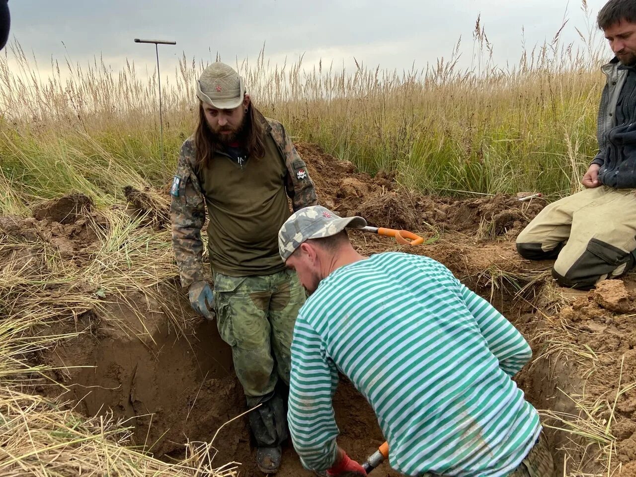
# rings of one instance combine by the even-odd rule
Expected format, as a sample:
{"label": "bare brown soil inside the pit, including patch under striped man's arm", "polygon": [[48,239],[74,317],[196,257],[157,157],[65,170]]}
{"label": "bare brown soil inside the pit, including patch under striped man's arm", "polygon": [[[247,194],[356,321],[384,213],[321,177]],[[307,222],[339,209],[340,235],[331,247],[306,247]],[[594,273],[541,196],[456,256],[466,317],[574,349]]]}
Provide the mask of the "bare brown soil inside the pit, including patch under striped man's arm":
{"label": "bare brown soil inside the pit, including patch under striped man's arm", "polygon": [[[47,353],[50,364],[68,367],[57,373],[60,384],[69,387],[65,397],[85,415],[113,412],[126,419],[135,427],[135,445],[162,459],[184,457],[184,443],[210,441],[220,429],[214,461],[219,466],[241,462],[241,475],[260,476],[246,418],[226,424],[246,408],[232,351],[221,340],[216,322],[201,320],[179,336],[158,304],[136,298],[109,305],[103,317],[83,315],[78,326],[90,331]],[[181,296],[174,300],[179,307],[188,305]],[[68,323],[55,329],[70,331]],[[364,398],[343,381],[334,406],[342,445],[359,459],[374,452],[383,441],[382,432]],[[399,475],[387,466],[384,471]],[[287,443],[279,475],[313,474],[301,467]]]}

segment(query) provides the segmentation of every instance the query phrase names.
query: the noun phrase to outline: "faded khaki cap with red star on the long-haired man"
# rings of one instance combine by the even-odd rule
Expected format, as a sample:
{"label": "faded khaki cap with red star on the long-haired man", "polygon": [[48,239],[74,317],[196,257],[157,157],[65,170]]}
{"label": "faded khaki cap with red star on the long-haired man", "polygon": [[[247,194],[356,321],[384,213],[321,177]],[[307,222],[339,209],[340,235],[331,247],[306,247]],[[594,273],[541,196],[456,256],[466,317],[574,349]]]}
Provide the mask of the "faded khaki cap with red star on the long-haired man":
{"label": "faded khaki cap with red star on the long-haired man", "polygon": [[215,62],[205,68],[197,81],[197,97],[218,109],[234,109],[243,102],[243,78],[225,63]]}

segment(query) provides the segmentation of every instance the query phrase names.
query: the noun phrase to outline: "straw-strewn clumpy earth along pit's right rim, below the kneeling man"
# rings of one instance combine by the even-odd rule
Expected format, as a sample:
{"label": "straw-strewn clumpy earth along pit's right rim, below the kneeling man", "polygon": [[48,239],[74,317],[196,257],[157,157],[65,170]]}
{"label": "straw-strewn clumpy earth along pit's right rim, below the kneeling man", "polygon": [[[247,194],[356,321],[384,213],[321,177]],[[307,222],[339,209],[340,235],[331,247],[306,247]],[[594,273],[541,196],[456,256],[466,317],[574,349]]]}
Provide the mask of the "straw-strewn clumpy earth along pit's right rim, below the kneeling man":
{"label": "straw-strewn clumpy earth along pit's right rim, below the kneeling man", "polygon": [[[550,380],[550,392],[540,398],[543,408],[550,406],[553,394],[556,400],[552,398],[550,407],[556,403],[567,416],[565,421],[578,426],[556,422],[556,427],[595,436],[598,447],[580,439],[575,446],[583,460],[588,453],[586,468],[597,472],[590,475],[614,472],[619,465],[621,475],[636,475],[636,283],[632,277],[600,282],[558,314],[543,315],[525,334],[534,341],[539,356],[535,369],[544,366],[549,371],[542,380],[535,377],[534,385],[524,387],[530,394],[532,388],[545,391]],[[557,421],[563,421],[564,415],[556,415]],[[571,449],[577,440],[572,438],[576,433],[553,435],[564,448]],[[590,458],[598,455],[600,459]]]}

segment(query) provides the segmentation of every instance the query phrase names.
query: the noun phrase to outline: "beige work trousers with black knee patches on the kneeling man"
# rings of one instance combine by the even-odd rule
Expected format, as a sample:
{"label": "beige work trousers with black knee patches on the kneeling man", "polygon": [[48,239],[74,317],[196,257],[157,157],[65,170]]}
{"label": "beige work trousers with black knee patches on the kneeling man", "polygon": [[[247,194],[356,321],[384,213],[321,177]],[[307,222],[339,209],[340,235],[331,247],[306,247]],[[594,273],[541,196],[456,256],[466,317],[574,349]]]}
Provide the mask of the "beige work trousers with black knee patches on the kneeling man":
{"label": "beige work trousers with black knee patches on the kneeling man", "polygon": [[539,212],[516,239],[527,259],[556,259],[561,286],[590,289],[632,268],[636,190],[600,186],[562,198]]}

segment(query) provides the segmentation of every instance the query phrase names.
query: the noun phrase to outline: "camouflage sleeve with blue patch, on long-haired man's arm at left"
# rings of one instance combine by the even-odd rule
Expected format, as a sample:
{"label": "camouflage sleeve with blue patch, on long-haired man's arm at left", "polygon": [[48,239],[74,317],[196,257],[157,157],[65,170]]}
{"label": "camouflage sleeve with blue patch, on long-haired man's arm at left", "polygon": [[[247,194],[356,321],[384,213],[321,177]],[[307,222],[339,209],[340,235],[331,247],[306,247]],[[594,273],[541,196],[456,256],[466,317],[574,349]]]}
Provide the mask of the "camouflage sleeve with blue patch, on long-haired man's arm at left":
{"label": "camouflage sleeve with blue patch, on long-haired man's arm at left", "polygon": [[201,240],[201,228],[205,222],[205,200],[197,174],[192,169],[194,158],[194,145],[188,139],[181,146],[177,174],[170,188],[172,247],[181,273],[181,285],[186,288],[192,282],[205,279]]}

